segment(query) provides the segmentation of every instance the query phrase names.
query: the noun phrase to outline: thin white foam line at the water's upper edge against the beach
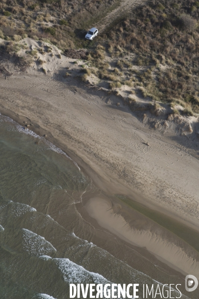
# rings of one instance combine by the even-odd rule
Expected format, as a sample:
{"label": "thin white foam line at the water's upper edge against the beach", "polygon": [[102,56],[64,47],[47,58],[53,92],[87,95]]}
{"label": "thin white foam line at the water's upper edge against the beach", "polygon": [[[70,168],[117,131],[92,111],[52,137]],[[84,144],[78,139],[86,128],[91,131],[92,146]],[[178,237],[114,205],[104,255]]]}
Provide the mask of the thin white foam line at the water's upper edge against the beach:
{"label": "thin white foam line at the water's upper edge against the beach", "polygon": [[34,133],[33,131],[27,129],[27,130],[24,130],[24,128],[22,126],[20,126],[19,124],[17,124],[16,122],[14,122],[11,118],[7,117],[7,116],[2,116],[0,114],[1,118],[6,121],[6,122],[9,122],[9,123],[12,123],[15,125],[16,129],[20,132],[20,133],[24,133],[24,134],[27,134],[27,135],[31,135],[33,136],[34,138],[37,138],[37,139],[40,139],[42,141],[45,142],[46,145],[49,146],[49,149],[53,150],[53,151],[56,151],[58,153],[61,153],[63,155],[65,155],[68,159],[70,159],[71,161],[73,161],[73,163],[76,165],[76,167],[81,171],[80,167],[78,166],[78,164],[71,158],[69,157],[62,149],[59,149],[57,148],[55,145],[53,145],[50,141],[47,141],[44,137],[40,137],[39,135],[37,135],[36,133]]}

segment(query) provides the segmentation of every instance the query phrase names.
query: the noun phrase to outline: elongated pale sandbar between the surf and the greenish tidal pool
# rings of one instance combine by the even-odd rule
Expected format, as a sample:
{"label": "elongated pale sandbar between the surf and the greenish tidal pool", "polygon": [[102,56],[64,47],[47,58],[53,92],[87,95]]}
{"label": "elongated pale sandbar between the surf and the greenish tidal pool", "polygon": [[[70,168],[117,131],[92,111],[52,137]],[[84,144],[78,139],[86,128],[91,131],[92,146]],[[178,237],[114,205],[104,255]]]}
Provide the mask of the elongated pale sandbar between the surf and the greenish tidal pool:
{"label": "elongated pale sandbar between the surf and the greenish tidal pool", "polygon": [[[91,198],[85,205],[89,215],[98,224],[117,235],[120,239],[146,248],[157,259],[168,263],[183,274],[193,273],[199,279],[199,255],[188,244],[175,239],[169,231],[161,229],[142,215],[132,215],[131,222],[119,204],[100,197]],[[134,217],[133,217],[134,216]],[[133,220],[133,221],[132,221]]]}

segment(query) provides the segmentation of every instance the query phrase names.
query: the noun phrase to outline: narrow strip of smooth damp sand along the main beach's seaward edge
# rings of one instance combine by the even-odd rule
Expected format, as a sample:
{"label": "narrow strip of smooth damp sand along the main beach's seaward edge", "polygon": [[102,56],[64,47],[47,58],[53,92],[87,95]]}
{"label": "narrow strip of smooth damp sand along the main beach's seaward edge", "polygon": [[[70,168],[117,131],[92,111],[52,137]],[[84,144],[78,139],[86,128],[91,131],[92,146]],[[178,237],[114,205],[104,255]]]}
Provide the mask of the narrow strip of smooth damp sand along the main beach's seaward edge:
{"label": "narrow strip of smooth damp sand along the main beach's seaward edge", "polygon": [[[29,121],[25,116],[19,116],[15,114],[13,111],[9,111],[5,108],[3,108],[0,105],[0,114],[3,116],[7,116],[11,118],[13,121],[24,127],[24,121]],[[69,149],[66,144],[64,144],[61,140],[58,140],[57,138],[53,137],[50,131],[47,131],[46,129],[42,128],[38,124],[34,124],[33,127],[31,127],[31,131],[33,131],[35,134],[37,134],[39,137],[44,137],[44,135],[47,135],[45,139],[49,142],[51,142],[53,145],[55,145],[57,148],[64,151],[73,161],[75,161],[78,166],[81,168],[81,171],[92,178],[92,181],[97,188],[102,190],[103,192],[106,192],[107,194],[121,194],[124,196],[127,196],[129,199],[138,202],[140,204],[143,204],[146,208],[153,209],[154,211],[163,213],[164,215],[171,217],[172,219],[177,220],[178,222],[182,223],[183,225],[190,227],[194,229],[195,231],[199,232],[199,223],[196,221],[188,221],[187,219],[183,219],[178,214],[171,212],[159,205],[155,205],[151,201],[146,201],[143,196],[140,194],[137,194],[134,190],[129,188],[129,186],[122,185],[121,182],[119,182],[116,178],[108,177],[98,165],[95,165],[93,163],[93,168],[88,162],[88,157],[78,156],[78,154],[73,149]],[[116,192],[113,192],[116,191]],[[132,194],[134,193],[134,194]]]}

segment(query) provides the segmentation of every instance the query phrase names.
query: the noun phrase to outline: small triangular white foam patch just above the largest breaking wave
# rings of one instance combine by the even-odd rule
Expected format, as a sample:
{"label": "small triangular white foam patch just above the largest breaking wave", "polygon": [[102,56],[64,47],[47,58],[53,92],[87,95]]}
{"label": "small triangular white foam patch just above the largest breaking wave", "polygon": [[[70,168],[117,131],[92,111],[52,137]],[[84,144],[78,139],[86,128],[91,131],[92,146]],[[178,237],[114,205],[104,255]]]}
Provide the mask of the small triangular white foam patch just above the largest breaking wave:
{"label": "small triangular white foam patch just above the largest breaking wave", "polygon": [[22,228],[23,231],[23,249],[30,255],[40,257],[42,255],[48,255],[56,252],[56,249],[52,244],[28,229]]}

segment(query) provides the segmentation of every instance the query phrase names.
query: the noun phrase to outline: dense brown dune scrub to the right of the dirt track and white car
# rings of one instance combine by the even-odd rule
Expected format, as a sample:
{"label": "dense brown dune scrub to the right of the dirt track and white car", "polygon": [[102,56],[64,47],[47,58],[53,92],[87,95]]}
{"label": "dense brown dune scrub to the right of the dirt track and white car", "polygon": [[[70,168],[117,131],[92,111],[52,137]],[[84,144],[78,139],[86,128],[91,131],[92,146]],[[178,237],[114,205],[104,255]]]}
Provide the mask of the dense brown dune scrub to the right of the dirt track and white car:
{"label": "dense brown dune scrub to the right of the dirt track and white car", "polygon": [[[138,66],[143,95],[177,103],[199,113],[199,2],[153,0],[137,8],[103,35],[118,69]],[[140,68],[139,68],[140,67]]]}

